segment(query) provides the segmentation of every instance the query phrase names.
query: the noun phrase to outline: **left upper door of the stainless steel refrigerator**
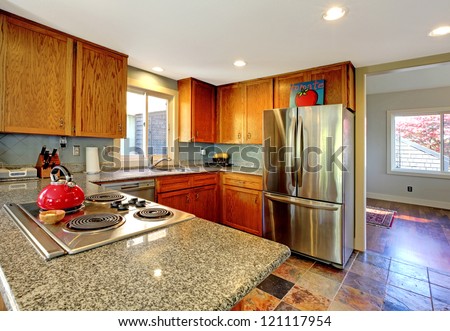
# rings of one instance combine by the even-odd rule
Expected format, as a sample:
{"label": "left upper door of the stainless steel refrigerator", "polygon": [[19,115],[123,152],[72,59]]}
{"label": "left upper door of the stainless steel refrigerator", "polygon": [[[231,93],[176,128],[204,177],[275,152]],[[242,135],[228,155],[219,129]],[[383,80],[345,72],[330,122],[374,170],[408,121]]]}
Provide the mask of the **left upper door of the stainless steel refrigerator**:
{"label": "left upper door of the stainless steel refrigerator", "polygon": [[295,196],[297,108],[264,111],[264,190]]}

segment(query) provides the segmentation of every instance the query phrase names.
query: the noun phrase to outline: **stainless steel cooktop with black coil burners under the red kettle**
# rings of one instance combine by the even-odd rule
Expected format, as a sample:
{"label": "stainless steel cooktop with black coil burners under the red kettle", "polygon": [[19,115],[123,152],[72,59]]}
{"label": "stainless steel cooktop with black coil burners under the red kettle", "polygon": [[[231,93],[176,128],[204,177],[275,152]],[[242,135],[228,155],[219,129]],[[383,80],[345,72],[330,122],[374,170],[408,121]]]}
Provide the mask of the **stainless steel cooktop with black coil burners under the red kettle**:
{"label": "stainless steel cooktop with black coil burners under the red kettle", "polygon": [[46,259],[80,253],[195,217],[118,192],[86,196],[82,206],[66,212],[56,224],[39,220],[35,202],[7,203],[4,208]]}

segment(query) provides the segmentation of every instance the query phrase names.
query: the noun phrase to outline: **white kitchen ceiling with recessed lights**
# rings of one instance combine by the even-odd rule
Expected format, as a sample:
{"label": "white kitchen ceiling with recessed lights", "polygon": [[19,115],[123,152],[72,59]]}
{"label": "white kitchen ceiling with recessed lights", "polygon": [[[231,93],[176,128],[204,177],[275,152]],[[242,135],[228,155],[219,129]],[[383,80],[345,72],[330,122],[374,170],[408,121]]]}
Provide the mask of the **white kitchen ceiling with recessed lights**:
{"label": "white kitchen ceiling with recessed lights", "polygon": [[[336,3],[348,15],[322,20]],[[126,53],[131,66],[215,85],[450,52],[450,35],[428,36],[450,25],[449,0],[0,0],[0,8]],[[248,65],[233,67],[238,58]]]}

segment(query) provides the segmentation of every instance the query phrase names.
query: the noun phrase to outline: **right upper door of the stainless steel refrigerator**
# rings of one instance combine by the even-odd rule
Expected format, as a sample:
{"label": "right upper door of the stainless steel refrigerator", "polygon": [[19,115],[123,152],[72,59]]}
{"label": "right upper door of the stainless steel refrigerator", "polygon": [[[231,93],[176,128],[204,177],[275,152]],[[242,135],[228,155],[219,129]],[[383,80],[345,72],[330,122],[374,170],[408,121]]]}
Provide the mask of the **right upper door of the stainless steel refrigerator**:
{"label": "right upper door of the stainless steel refrigerator", "polygon": [[343,202],[344,111],[342,105],[298,108],[297,197]]}

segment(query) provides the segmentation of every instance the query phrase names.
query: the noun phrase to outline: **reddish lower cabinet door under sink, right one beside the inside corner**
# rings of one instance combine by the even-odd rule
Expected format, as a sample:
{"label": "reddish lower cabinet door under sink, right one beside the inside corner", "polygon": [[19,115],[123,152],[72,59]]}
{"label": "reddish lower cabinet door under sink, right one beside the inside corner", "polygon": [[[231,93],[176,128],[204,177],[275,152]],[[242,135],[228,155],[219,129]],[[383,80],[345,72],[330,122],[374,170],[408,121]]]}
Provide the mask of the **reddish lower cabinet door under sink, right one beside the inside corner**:
{"label": "reddish lower cabinet door under sink, right one beside the inside corner", "polygon": [[195,216],[217,222],[217,185],[196,188],[192,192]]}

